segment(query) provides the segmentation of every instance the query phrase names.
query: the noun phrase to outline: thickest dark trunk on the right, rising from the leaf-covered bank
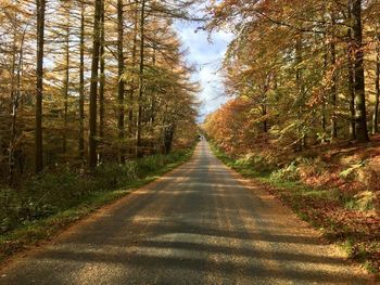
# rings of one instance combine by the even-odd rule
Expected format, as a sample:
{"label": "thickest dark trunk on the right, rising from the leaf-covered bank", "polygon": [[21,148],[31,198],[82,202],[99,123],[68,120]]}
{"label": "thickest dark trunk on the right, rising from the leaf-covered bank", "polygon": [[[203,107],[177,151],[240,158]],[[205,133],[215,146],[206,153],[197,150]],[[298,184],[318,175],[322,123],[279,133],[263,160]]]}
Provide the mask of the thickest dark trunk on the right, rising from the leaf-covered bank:
{"label": "thickest dark trunk on the right, rising from the leaf-covered bank", "polygon": [[364,78],[364,52],[362,27],[362,0],[350,0],[353,15],[353,44],[355,52],[354,63],[354,89],[355,89],[355,121],[356,140],[368,142],[366,94]]}

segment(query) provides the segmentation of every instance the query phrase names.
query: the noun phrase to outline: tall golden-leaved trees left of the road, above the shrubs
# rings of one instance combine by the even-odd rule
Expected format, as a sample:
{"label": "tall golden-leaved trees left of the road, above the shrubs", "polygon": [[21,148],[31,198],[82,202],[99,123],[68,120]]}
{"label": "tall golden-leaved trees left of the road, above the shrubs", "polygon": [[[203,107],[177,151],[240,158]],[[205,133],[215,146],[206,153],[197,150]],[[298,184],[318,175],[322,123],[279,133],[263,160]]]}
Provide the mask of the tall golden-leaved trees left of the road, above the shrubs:
{"label": "tall golden-leaved trees left of the road, above the shrubs", "polygon": [[173,24],[190,5],[1,1],[1,180],[189,144],[198,85]]}

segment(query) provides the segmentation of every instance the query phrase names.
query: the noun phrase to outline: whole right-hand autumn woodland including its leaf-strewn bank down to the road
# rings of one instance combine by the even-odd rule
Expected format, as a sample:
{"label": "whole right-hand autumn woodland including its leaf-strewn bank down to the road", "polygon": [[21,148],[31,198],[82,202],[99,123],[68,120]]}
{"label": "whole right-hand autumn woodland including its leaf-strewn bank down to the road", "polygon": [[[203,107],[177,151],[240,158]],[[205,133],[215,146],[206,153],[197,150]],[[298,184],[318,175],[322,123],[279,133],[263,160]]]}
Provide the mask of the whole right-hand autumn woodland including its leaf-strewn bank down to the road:
{"label": "whole right-hand autumn woodland including its leaf-strewn bank down to the road", "polygon": [[380,1],[226,0],[210,15],[235,35],[231,99],[202,126],[220,158],[378,270]]}

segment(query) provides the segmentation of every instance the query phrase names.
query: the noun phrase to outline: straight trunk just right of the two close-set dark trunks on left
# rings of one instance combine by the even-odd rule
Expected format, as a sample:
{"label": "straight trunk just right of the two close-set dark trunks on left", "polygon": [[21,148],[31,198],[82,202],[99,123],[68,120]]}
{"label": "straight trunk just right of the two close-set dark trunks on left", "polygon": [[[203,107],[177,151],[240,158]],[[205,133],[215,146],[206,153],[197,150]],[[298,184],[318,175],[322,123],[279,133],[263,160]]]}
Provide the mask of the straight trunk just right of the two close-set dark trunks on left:
{"label": "straight trunk just right of the two close-set dark trunks on left", "polygon": [[123,0],[117,0],[117,101],[118,101],[118,117],[117,117],[117,128],[118,128],[118,139],[121,140],[122,147],[119,154],[119,160],[122,164],[125,163],[125,130],[124,130],[124,17],[123,17]]}

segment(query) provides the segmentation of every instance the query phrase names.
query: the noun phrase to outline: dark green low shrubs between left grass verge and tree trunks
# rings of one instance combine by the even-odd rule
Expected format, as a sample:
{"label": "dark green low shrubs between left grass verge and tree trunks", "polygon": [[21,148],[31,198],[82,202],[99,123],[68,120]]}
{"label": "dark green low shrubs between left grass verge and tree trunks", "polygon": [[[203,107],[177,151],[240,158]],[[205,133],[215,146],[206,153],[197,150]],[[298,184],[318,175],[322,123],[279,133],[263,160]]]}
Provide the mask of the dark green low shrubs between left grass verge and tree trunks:
{"label": "dark green low shrubs between left grass verge and tree trunks", "polygon": [[104,164],[92,174],[62,167],[60,171],[29,179],[18,190],[0,186],[0,233],[75,207],[91,193],[126,186],[189,154],[180,151],[129,160],[124,165]]}

